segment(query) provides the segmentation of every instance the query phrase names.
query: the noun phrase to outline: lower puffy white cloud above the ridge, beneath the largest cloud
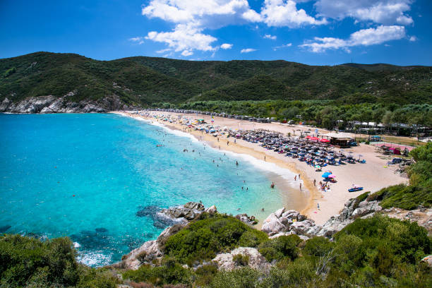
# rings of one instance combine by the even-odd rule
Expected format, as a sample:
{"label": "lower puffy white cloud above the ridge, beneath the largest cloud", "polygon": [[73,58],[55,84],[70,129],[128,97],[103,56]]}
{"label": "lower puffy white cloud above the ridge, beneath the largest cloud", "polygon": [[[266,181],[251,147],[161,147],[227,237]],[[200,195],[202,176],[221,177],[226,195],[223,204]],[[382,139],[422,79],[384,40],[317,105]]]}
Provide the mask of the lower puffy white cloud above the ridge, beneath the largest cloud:
{"label": "lower puffy white cloud above the ridge, beneath the largest cloud", "polygon": [[201,33],[200,29],[184,24],[176,25],[176,28],[171,32],[148,32],[145,39],[165,43],[175,52],[184,52],[185,54],[191,53],[193,50],[215,51],[216,48],[212,47],[211,44],[217,40],[215,37]]}

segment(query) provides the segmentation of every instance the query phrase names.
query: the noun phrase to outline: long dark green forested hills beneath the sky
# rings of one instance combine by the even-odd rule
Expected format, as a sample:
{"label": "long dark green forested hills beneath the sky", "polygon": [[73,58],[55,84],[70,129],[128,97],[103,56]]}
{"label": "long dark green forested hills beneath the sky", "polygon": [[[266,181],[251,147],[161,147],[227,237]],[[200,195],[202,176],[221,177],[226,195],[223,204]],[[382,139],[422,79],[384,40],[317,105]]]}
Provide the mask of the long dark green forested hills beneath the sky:
{"label": "long dark green forested hills beneath the sky", "polygon": [[[335,100],[372,95],[378,102],[432,102],[432,68],[388,64],[307,66],[287,61],[185,61],[145,56],[97,61],[37,52],[0,59],[0,100],[28,96],[129,104],[187,100]],[[368,97],[364,97],[367,99]]]}

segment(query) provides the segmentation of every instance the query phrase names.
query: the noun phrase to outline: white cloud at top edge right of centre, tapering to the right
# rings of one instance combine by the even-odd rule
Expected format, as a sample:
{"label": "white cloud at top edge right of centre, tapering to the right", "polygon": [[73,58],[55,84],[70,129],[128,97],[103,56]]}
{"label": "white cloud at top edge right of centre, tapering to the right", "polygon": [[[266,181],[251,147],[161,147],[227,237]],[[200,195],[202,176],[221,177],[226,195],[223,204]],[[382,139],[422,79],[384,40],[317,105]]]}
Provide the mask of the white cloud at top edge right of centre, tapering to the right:
{"label": "white cloud at top edge right of centre, tapering to the right", "polygon": [[268,26],[297,28],[302,25],[321,25],[327,23],[325,18],[317,20],[308,16],[304,9],[297,10],[293,0],[265,0],[261,10],[264,22]]}

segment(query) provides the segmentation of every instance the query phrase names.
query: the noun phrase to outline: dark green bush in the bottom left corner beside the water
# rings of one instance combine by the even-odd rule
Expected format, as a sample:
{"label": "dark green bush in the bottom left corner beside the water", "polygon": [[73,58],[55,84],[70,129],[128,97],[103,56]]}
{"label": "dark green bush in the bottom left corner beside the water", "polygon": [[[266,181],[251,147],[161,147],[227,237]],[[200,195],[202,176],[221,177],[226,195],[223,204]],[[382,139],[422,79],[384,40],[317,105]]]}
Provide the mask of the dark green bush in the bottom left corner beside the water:
{"label": "dark green bush in the bottom left corner beside the water", "polygon": [[76,262],[68,238],[0,237],[0,287],[115,287],[109,272]]}

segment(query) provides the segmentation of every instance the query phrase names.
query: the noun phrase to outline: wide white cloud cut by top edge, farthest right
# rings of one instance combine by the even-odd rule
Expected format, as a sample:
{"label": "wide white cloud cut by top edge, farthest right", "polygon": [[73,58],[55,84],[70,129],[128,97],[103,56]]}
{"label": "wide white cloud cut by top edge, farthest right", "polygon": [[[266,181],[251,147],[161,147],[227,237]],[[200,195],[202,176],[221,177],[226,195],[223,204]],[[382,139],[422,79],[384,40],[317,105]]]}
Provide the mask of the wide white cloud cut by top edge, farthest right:
{"label": "wide white cloud cut by top edge, farthest right", "polygon": [[315,4],[319,16],[342,20],[356,20],[382,24],[409,25],[411,16],[404,13],[411,9],[413,0],[318,0]]}

